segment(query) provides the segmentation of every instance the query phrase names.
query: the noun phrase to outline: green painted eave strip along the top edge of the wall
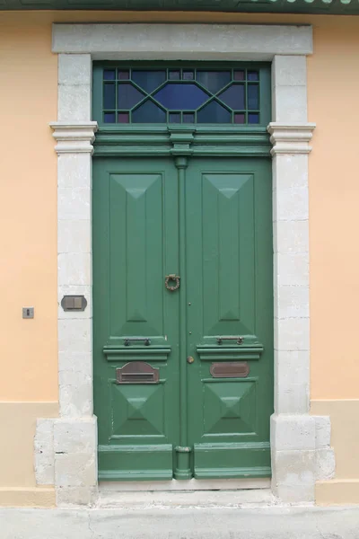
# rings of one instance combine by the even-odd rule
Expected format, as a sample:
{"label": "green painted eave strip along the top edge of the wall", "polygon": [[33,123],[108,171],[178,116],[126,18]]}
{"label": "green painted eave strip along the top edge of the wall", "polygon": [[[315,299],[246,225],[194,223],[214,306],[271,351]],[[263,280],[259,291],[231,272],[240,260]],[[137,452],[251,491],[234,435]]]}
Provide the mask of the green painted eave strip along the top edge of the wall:
{"label": "green painted eave strip along the top edge of the wall", "polygon": [[355,0],[2,0],[0,10],[121,10],[359,14]]}

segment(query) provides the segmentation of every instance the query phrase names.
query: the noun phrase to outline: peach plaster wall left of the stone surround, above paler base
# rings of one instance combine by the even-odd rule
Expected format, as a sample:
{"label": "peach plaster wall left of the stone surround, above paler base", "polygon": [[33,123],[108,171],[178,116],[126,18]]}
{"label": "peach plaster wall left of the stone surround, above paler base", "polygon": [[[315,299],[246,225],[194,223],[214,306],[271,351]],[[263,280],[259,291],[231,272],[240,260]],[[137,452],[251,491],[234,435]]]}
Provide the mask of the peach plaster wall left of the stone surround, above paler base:
{"label": "peach plaster wall left of the stone surround, above paler base", "polygon": [[[57,401],[57,117],[51,26],[0,13],[0,401]],[[22,320],[22,306],[35,307]]]}

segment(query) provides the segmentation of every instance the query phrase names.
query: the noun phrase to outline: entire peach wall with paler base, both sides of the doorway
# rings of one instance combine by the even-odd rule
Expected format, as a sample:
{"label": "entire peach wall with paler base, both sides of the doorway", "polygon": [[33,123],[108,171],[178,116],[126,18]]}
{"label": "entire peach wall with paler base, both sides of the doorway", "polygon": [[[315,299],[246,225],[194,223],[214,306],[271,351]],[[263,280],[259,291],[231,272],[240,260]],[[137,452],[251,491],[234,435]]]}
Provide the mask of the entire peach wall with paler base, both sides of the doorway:
{"label": "entire peach wall with paler base, both sides of the doorway", "polygon": [[[16,493],[16,503],[53,503],[51,496],[33,494],[32,469],[35,418],[57,413],[57,179],[48,128],[48,122],[57,118],[57,56],[51,54],[51,22],[135,20],[313,25],[314,55],[308,60],[309,119],[318,127],[310,157],[311,398],[313,413],[331,415],[337,456],[335,482],[319,485],[318,501],[347,498],[359,502],[356,444],[350,441],[353,436],[359,442],[359,242],[355,234],[359,229],[355,173],[359,17],[3,12],[0,425],[6,443],[0,446],[0,504],[5,498],[9,500],[9,489]],[[25,305],[35,307],[34,320],[22,320]],[[8,414],[16,420],[7,420]],[[22,436],[14,436],[14,432]],[[19,461],[23,461],[20,474]]]}

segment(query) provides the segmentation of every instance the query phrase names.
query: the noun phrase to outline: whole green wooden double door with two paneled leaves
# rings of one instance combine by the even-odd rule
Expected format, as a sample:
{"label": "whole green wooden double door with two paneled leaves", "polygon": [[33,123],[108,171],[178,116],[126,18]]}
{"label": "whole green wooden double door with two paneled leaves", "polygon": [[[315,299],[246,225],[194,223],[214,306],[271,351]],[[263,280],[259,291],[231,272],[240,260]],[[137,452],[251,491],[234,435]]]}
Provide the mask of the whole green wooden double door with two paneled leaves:
{"label": "whole green wooden double door with two paneled leaves", "polygon": [[268,159],[94,159],[101,480],[270,475],[271,222]]}

